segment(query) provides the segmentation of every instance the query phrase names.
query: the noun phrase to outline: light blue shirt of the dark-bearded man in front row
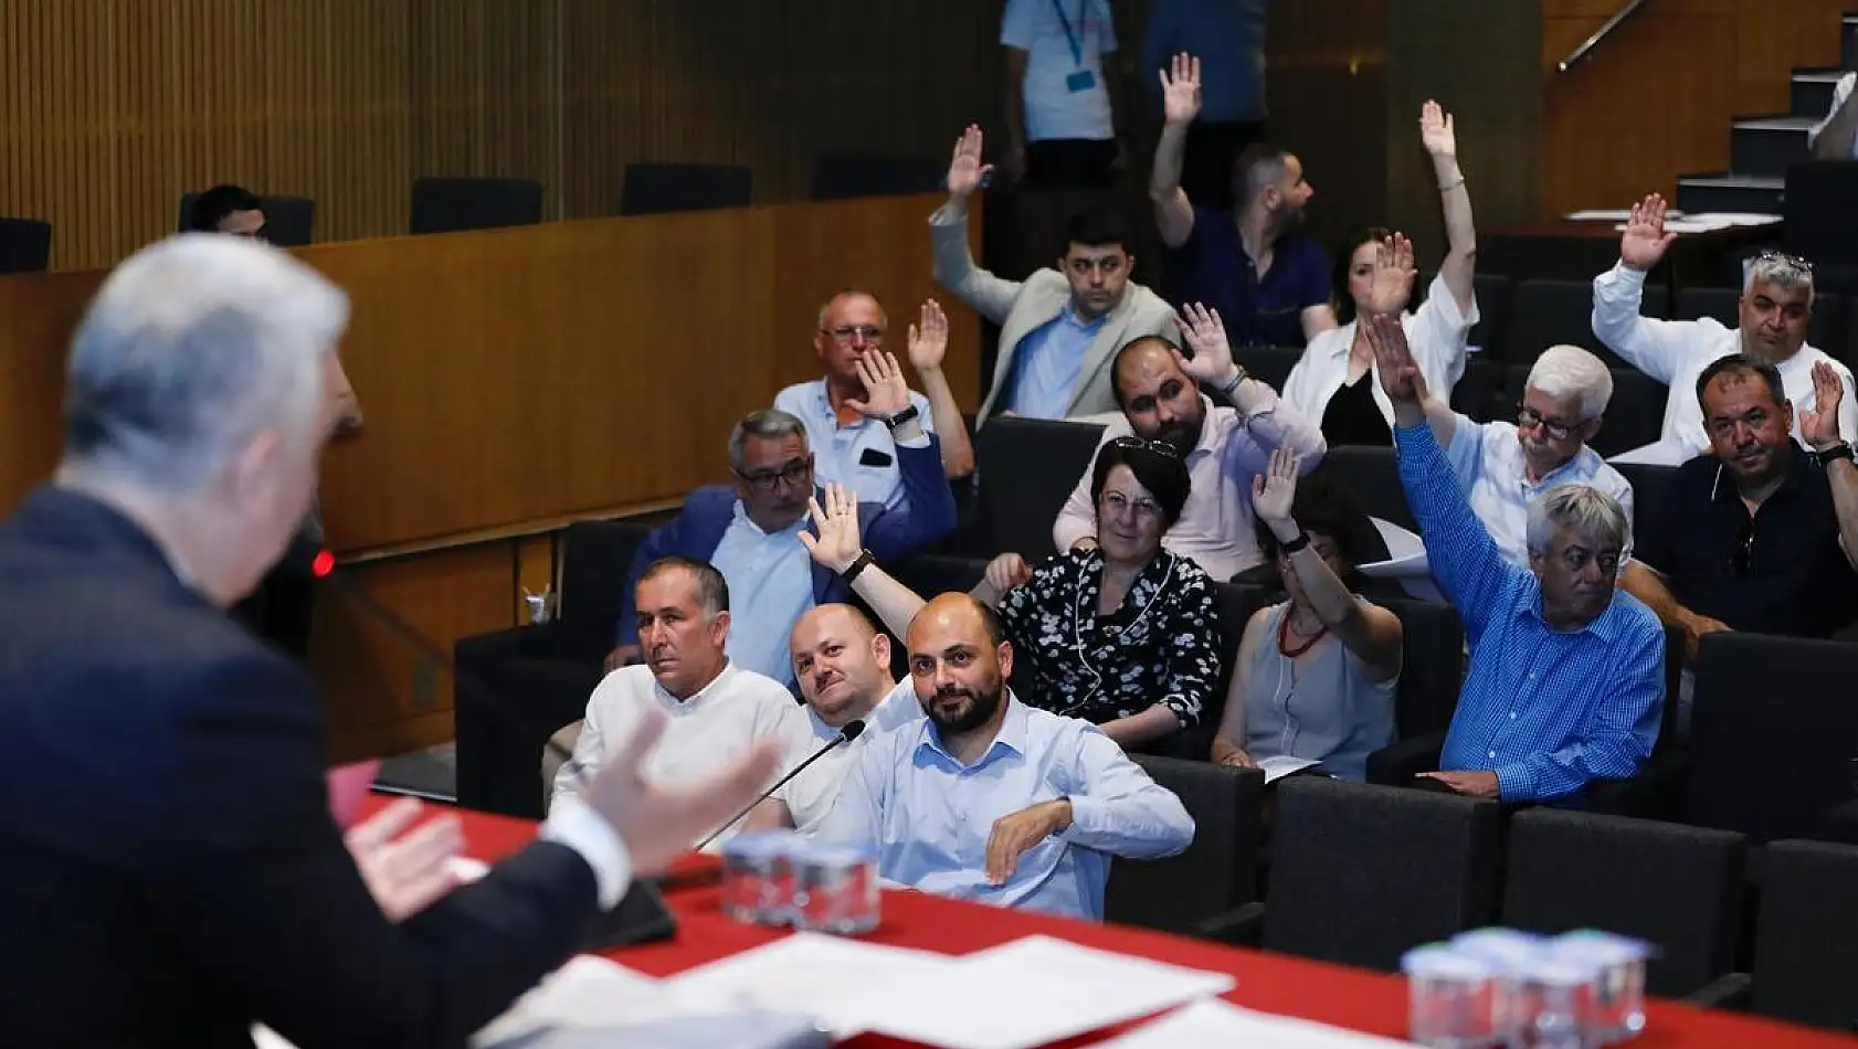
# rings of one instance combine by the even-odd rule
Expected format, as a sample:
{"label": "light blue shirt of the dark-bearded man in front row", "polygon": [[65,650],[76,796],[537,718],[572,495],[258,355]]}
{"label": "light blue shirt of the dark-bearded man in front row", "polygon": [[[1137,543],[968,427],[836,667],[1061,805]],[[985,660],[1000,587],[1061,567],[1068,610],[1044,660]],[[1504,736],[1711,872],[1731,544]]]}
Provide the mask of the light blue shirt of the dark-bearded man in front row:
{"label": "light blue shirt of the dark-bearded man in front row", "polygon": [[[935,722],[871,741],[821,822],[823,841],[877,850],[879,876],[942,897],[1083,919],[1104,917],[1109,858],[1152,860],[1193,843],[1193,819],[1096,726],[1014,700],[974,765]],[[987,880],[994,821],[1070,798],[1072,824],[1026,850],[1003,886]]]}

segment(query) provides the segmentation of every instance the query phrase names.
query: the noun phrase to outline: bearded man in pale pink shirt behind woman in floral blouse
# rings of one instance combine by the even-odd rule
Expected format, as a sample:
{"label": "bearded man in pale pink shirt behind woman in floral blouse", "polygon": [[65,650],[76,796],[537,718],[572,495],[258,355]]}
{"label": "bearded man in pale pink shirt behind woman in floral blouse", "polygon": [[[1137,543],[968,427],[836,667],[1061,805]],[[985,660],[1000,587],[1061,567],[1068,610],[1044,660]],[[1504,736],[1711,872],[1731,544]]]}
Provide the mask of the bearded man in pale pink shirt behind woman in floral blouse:
{"label": "bearded man in pale pink shirt behind woman in floral blouse", "polygon": [[[1111,382],[1122,414],[1107,416],[1104,440],[1137,434],[1174,447],[1193,486],[1180,520],[1161,537],[1163,546],[1195,559],[1213,579],[1230,579],[1263,564],[1252,525],[1252,477],[1284,447],[1297,453],[1308,473],[1323,459],[1323,431],[1278,399],[1276,390],[1232,362],[1226,329],[1213,310],[1189,306],[1176,321],[1193,356],[1158,336],[1143,336],[1120,351]],[[1236,407],[1217,407],[1200,384],[1224,394]],[[1096,505],[1091,499],[1093,459],[1052,525],[1059,550],[1096,546]]]}

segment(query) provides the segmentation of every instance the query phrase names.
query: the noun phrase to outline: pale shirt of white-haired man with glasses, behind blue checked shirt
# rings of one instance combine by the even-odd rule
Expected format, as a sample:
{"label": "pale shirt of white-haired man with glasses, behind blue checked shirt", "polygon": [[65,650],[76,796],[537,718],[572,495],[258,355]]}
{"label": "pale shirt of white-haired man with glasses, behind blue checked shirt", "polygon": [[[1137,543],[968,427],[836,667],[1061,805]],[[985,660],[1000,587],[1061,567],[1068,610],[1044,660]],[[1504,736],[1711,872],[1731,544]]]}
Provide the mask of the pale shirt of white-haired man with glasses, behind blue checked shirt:
{"label": "pale shirt of white-haired man with glasses, behind blue checked shirt", "polygon": [[1550,470],[1538,485],[1531,485],[1524,472],[1516,423],[1477,423],[1459,416],[1446,459],[1459,477],[1459,488],[1472,503],[1472,512],[1485,522],[1485,531],[1496,540],[1503,557],[1520,568],[1529,566],[1529,503],[1550,488],[1592,485],[1613,496],[1613,501],[1626,511],[1628,527],[1631,525],[1631,483],[1585,444],[1574,459]]}

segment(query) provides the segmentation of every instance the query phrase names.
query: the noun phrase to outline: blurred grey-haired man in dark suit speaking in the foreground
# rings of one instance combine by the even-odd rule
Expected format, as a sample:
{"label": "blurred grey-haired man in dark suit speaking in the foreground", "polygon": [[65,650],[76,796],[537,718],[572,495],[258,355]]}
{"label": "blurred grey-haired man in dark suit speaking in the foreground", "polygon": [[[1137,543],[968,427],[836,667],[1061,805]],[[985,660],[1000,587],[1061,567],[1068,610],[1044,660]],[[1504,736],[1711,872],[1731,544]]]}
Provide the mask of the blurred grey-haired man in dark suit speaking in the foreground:
{"label": "blurred grey-haired man in dark suit speaking in the foreground", "polygon": [[308,511],[346,323],[308,265],[186,234],[78,325],[63,460],[0,524],[9,1043],[463,1045],[780,759],[669,791],[647,719],[478,886],[383,913],[331,815],[323,700],[225,615]]}

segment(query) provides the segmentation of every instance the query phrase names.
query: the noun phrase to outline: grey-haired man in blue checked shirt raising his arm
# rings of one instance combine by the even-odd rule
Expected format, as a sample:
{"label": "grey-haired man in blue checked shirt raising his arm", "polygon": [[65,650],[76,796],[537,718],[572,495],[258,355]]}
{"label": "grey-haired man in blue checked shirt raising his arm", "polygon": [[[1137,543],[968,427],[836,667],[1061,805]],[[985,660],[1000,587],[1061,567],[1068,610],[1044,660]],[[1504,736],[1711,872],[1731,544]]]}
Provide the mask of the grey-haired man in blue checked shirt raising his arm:
{"label": "grey-haired man in blue checked shirt raising his arm", "polygon": [[1399,319],[1373,317],[1367,336],[1407,503],[1472,646],[1440,771],[1421,776],[1505,802],[1633,776],[1657,741],[1665,628],[1615,589],[1631,518],[1592,485],[1561,485],[1529,505],[1527,568],[1511,564],[1453,483]]}

